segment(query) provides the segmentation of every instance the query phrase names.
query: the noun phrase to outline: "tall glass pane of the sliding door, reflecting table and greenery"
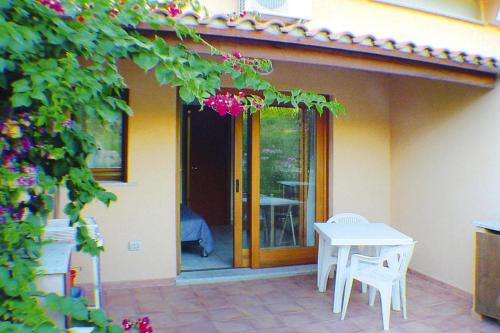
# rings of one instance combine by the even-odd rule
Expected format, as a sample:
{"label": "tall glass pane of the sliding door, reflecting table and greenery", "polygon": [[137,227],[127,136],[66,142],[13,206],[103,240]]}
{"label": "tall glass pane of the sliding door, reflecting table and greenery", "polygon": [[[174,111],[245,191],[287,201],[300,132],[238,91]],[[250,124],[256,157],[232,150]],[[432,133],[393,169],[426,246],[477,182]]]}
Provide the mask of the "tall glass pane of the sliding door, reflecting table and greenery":
{"label": "tall glass pane of the sliding door, reflecting table and greenery", "polygon": [[314,245],[315,114],[260,113],[261,247]]}

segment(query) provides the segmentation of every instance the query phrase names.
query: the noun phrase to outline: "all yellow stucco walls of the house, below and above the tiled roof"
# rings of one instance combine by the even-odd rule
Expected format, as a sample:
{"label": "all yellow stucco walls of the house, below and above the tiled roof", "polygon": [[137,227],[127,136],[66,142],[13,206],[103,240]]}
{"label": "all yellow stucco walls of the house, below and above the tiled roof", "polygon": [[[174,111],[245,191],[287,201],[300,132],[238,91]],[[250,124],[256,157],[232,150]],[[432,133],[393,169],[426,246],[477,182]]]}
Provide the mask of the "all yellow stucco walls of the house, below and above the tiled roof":
{"label": "all yellow stucco walls of the house, below and above the tiled roof", "polygon": [[[205,1],[213,12],[236,0]],[[313,1],[317,26],[500,58],[500,30],[367,0]],[[222,10],[224,9],[224,10]],[[313,25],[312,24],[312,25]],[[129,183],[111,184],[119,201],[91,205],[106,239],[105,281],[176,275],[175,91],[126,62],[130,87]],[[276,63],[269,79],[333,94],[349,113],[332,121],[330,212],[392,223],[419,241],[412,267],[472,290],[470,221],[497,218],[500,89],[318,66]],[[143,250],[127,251],[129,240]],[[81,281],[89,279],[87,260]],[[446,264],[445,264],[446,263]]]}

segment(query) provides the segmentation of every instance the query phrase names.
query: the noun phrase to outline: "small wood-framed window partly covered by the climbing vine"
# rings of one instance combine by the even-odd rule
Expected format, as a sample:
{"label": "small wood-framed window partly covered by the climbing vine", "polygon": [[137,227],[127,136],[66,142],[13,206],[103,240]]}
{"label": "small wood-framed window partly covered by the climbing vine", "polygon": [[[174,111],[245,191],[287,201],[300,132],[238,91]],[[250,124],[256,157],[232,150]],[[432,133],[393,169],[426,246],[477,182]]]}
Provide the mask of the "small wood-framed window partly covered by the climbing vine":
{"label": "small wood-framed window partly covered by the climbing vine", "polygon": [[[123,99],[128,103],[128,90],[124,90]],[[126,181],[127,125],[126,114],[106,125],[95,121],[85,122],[85,127],[92,133],[97,145],[97,151],[87,159],[96,180]]]}

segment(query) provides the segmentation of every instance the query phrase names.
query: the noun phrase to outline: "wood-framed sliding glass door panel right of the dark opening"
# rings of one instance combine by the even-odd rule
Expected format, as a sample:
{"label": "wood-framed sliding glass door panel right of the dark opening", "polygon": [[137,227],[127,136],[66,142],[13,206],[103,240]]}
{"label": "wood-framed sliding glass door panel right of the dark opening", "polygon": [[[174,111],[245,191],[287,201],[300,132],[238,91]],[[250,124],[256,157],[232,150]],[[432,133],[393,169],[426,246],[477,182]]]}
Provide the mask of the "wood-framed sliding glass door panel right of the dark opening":
{"label": "wood-framed sliding glass door panel right of the dark opening", "polygon": [[314,262],[313,224],[326,216],[326,115],[270,107],[237,119],[234,133],[235,266]]}

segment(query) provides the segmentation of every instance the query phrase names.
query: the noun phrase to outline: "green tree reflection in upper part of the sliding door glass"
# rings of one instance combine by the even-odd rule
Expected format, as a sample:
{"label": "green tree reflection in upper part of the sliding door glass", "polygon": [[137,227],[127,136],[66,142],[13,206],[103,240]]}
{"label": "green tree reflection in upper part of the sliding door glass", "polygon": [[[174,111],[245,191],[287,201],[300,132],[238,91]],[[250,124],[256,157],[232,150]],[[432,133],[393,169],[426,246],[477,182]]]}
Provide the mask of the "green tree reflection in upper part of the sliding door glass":
{"label": "green tree reflection in upper part of the sliding door glass", "polygon": [[260,117],[261,193],[281,196],[279,181],[300,179],[301,113],[273,107]]}

